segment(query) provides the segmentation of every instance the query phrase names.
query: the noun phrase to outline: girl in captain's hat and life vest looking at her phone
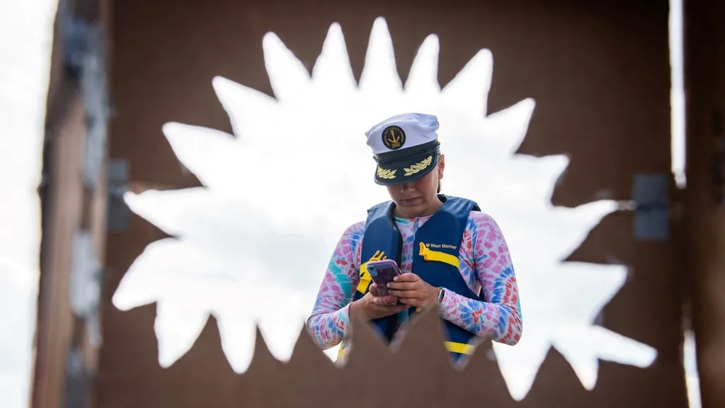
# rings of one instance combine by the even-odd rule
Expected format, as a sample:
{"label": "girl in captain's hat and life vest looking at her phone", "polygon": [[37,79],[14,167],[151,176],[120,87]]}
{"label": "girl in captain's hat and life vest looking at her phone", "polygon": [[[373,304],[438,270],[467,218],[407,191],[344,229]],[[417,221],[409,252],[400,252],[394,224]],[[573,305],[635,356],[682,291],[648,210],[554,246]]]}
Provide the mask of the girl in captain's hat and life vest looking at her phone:
{"label": "girl in captain's hat and life vest looking at her phone", "polygon": [[[328,265],[307,329],[323,348],[342,342],[351,314],[399,340],[411,315],[439,307],[453,359],[471,354],[476,338],[515,345],[522,319],[508,245],[496,221],[471,200],[441,195],[445,168],[434,115],[405,113],[365,135],[378,163],[377,184],[391,200],[347,228]],[[390,258],[402,275],[378,294],[365,264]]]}

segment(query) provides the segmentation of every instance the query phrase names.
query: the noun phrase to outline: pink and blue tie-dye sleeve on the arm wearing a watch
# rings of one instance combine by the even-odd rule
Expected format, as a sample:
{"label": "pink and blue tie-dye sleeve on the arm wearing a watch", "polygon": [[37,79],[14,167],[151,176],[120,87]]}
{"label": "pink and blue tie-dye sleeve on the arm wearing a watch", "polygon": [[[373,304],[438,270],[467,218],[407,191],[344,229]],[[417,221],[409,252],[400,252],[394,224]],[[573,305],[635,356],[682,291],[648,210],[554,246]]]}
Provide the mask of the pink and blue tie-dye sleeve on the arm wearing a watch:
{"label": "pink and blue tie-dye sleeve on the arm wearing a watch", "polygon": [[[491,216],[472,212],[467,232],[484,301],[446,291],[441,315],[479,336],[510,346],[521,338],[521,304],[506,240]],[[464,242],[465,245],[465,242]]]}

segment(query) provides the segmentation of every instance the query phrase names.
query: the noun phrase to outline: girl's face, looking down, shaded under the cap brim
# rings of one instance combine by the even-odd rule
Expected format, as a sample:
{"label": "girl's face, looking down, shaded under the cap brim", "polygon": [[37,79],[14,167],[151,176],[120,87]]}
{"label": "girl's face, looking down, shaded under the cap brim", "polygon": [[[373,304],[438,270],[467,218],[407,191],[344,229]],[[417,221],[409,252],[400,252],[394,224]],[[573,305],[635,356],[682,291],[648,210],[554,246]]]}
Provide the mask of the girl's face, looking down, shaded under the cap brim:
{"label": "girl's face, looking down, shaded under the cap brim", "polygon": [[438,165],[422,179],[410,183],[387,186],[388,194],[395,203],[395,215],[403,218],[429,216],[440,207],[438,183],[443,178],[444,155],[439,155]]}

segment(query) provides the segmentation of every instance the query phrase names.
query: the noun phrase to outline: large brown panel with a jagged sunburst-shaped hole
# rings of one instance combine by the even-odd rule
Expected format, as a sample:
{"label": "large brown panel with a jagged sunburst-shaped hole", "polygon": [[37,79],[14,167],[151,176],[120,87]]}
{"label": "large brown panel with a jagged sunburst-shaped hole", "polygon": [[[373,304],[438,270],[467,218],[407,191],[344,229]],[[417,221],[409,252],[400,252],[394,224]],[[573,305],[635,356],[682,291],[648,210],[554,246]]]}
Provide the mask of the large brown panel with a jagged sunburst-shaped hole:
{"label": "large brown panel with a jagged sunburst-shaped hole", "polygon": [[[231,131],[212,89],[212,78],[225,76],[271,94],[261,46],[268,31],[277,33],[311,69],[329,25],[339,22],[359,76],[373,20],[382,15],[392,33],[403,78],[429,33],[439,36],[442,85],[479,49],[491,49],[494,73],[489,112],[533,97],[537,107],[521,152],[567,152],[571,156],[555,190],[555,203],[627,199],[634,173],[669,172],[667,1],[647,2],[647,7],[644,2],[604,0],[547,3],[116,1],[112,70],[117,115],[110,154],[130,160],[134,184],[198,185],[193,175],[181,171],[161,134],[163,123],[180,121]],[[501,401],[503,406],[542,407],[552,401],[571,407],[683,406],[675,248],[671,242],[635,242],[631,230],[631,213],[615,213],[592,231],[571,260],[631,266],[631,280],[605,309],[605,326],[656,346],[660,359],[655,365],[639,370],[602,363],[597,388],[586,392],[562,357],[552,352],[529,396],[514,404],[502,380],[497,380],[500,374],[494,363],[479,357],[476,370],[494,378],[489,388],[476,391],[481,393],[479,397]],[[148,242],[160,237],[157,229],[137,217],[128,232],[109,234],[111,273],[104,297],[106,343],[101,354],[104,381],[99,407],[124,406],[119,401],[138,407],[172,403],[194,407],[191,401],[200,401],[195,396],[173,395],[188,395],[186,390],[179,393],[182,384],[199,384],[199,392],[208,398],[218,395],[218,400],[207,401],[210,406],[247,401],[247,391],[263,388],[265,381],[247,375],[241,377],[242,384],[258,381],[255,384],[259,385],[244,388],[237,384],[239,379],[218,355],[216,327],[208,325],[190,354],[161,370],[156,361],[154,308],[123,313],[110,303],[133,259]],[[200,357],[206,354],[213,359]],[[191,362],[202,367],[194,368]],[[278,370],[271,361],[265,364],[263,369],[255,369],[261,370],[258,375],[271,376]],[[213,367],[218,367],[217,379],[222,385],[201,377],[200,373],[212,372]],[[286,372],[282,370],[280,375],[292,375]],[[357,384],[348,378],[347,384]],[[202,391],[201,387],[208,388]],[[231,396],[225,387],[237,387],[237,396]],[[339,392],[350,398],[352,390]],[[308,398],[314,401],[313,396]]]}

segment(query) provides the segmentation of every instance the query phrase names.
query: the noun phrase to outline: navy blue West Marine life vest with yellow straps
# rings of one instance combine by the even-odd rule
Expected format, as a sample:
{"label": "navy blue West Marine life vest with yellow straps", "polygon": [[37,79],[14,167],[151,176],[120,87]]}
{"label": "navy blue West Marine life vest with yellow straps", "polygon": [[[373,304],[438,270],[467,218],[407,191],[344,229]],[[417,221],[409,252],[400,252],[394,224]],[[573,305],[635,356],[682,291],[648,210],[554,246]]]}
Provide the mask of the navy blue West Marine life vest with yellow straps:
{"label": "navy blue West Marine life vest with yellow straps", "polygon": [[[423,226],[415,232],[413,243],[413,273],[433,287],[445,287],[447,290],[466,298],[481,301],[479,294],[474,293],[466,284],[459,269],[460,243],[468,223],[471,211],[481,211],[479,205],[465,198],[439,195],[443,205]],[[363,298],[371,284],[370,274],[365,264],[379,260],[383,256],[394,259],[401,264],[402,237],[393,219],[392,201],[380,203],[368,210],[365,222],[363,248],[360,254],[360,283],[355,290],[353,301]],[[384,254],[383,254],[384,253]],[[408,309],[409,317],[416,313],[416,308]],[[370,323],[381,332],[386,340],[392,340],[397,329],[398,315],[374,319]],[[469,344],[475,334],[444,320],[447,341],[445,346],[457,360],[464,354],[471,354],[473,346]],[[347,342],[343,342],[343,355]]]}

